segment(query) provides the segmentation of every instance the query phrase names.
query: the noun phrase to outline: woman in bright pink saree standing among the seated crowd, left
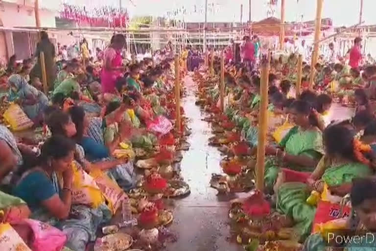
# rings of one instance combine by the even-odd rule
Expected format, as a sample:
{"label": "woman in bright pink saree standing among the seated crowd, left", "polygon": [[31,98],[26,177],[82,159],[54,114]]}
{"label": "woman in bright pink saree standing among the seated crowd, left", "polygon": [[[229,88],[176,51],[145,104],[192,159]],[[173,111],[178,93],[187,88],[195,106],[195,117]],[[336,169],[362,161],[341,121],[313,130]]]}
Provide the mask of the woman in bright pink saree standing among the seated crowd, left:
{"label": "woman in bright pink saree standing among the seated crowd, left", "polygon": [[121,50],[124,48],[125,38],[122,34],[116,34],[111,38],[110,46],[104,51],[104,62],[100,75],[102,93],[115,93],[115,83],[124,70],[122,66]]}

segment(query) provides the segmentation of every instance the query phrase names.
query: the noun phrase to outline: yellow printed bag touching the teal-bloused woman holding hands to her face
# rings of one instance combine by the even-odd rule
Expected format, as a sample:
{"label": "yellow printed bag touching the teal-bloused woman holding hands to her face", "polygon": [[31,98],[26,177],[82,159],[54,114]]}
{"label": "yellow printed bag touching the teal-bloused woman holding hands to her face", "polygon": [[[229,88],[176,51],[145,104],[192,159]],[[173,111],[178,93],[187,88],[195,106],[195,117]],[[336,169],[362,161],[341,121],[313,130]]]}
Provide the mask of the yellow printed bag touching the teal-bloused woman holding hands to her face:
{"label": "yellow printed bag touching the teal-bloused woman holding hands to her face", "polygon": [[72,203],[97,208],[104,202],[104,197],[94,178],[87,174],[75,161],[72,162],[71,166],[73,170]]}

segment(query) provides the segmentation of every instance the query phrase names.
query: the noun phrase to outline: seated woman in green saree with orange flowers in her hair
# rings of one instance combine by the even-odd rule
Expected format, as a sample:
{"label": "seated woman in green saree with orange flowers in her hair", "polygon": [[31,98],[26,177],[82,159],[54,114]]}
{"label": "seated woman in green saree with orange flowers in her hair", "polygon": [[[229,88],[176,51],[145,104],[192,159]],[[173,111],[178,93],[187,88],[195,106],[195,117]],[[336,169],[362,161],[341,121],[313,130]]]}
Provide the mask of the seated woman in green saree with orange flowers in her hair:
{"label": "seated woman in green saree with orange flowers in her hair", "polygon": [[[372,174],[369,162],[355,146],[354,132],[345,125],[329,126],[324,131],[325,156],[305,182],[287,182],[275,186],[277,210],[291,218],[301,240],[310,233],[316,208],[306,202],[313,190],[323,193],[327,187],[331,197],[343,197],[351,190],[352,179]],[[365,164],[366,162],[367,164]],[[323,193],[324,195],[324,193]],[[325,199],[322,195],[323,200]]]}

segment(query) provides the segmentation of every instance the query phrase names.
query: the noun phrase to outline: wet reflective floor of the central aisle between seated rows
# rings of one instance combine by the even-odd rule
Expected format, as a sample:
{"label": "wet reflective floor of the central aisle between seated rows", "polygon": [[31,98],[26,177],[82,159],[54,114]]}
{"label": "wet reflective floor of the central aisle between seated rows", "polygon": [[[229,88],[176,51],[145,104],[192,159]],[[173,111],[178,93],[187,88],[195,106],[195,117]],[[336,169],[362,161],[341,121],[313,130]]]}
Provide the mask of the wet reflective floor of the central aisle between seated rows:
{"label": "wet reflective floor of the central aisle between seated rows", "polygon": [[220,152],[208,146],[212,136],[208,122],[202,121],[205,113],[195,105],[195,86],[192,79],[185,79],[187,97],[183,106],[192,134],[188,137],[191,147],[184,153],[181,175],[190,185],[191,194],[174,201],[174,223],[169,227],[178,234],[178,241],[167,246],[168,251],[241,251],[241,246],[229,241],[228,205],[234,197],[217,196],[210,187],[212,173],[220,173]]}

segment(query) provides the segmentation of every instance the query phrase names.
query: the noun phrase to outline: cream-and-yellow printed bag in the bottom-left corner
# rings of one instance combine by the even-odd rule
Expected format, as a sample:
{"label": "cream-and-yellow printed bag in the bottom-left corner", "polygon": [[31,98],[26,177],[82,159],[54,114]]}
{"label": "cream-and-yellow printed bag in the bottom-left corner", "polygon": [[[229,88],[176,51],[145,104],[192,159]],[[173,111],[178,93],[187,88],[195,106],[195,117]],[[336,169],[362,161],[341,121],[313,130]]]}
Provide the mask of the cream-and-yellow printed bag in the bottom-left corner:
{"label": "cream-and-yellow printed bag in the bottom-left corner", "polygon": [[8,223],[0,224],[0,250],[31,251],[16,230]]}

